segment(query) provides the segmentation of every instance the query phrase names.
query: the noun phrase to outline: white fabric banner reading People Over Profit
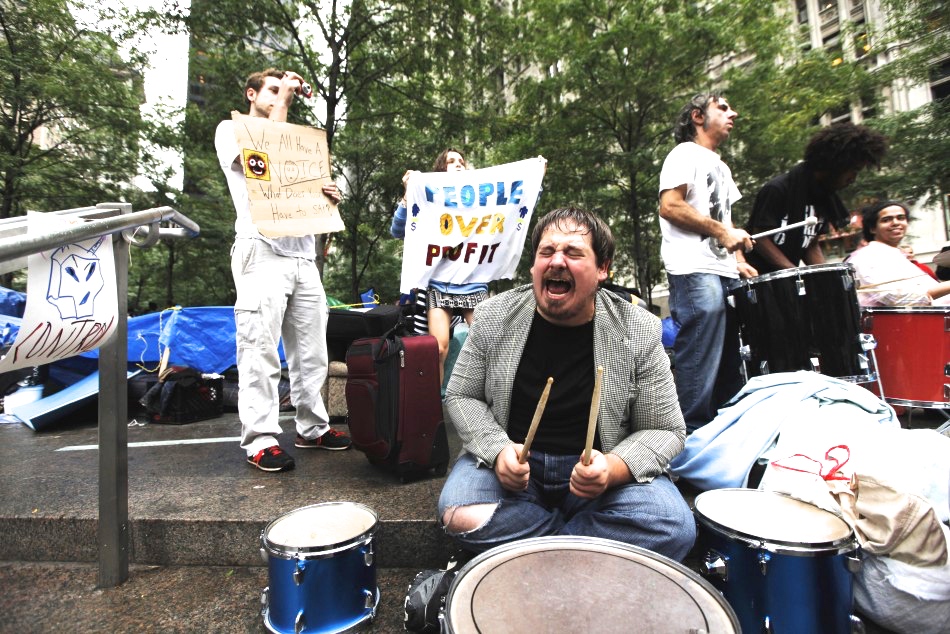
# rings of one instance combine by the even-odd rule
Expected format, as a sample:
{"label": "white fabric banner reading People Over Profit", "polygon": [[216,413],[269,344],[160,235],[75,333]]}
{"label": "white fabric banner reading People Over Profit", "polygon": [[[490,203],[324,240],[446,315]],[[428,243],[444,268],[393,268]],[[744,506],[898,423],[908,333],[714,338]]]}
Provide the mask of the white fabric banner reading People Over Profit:
{"label": "white fabric banner reading People Over Profit", "polygon": [[406,191],[400,292],[429,280],[511,278],[541,193],[542,157],[461,172],[415,173]]}

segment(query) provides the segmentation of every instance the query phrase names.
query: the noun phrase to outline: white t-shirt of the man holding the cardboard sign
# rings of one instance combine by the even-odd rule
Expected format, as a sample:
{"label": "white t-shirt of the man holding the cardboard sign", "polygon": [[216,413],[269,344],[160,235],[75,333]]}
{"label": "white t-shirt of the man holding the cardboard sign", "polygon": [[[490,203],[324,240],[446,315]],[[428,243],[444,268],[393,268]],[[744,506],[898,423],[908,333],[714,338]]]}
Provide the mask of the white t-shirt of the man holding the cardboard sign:
{"label": "white t-shirt of the man holding the cardboard sign", "polygon": [[307,258],[316,255],[316,241],[313,236],[290,236],[267,238],[261,235],[251,220],[251,201],[247,196],[247,178],[244,176],[241,148],[234,136],[234,121],[225,119],[218,124],[214,133],[214,148],[218,154],[218,164],[228,180],[228,190],[234,202],[234,236],[236,238],[254,238],[263,240],[271,246],[274,253],[287,257]]}

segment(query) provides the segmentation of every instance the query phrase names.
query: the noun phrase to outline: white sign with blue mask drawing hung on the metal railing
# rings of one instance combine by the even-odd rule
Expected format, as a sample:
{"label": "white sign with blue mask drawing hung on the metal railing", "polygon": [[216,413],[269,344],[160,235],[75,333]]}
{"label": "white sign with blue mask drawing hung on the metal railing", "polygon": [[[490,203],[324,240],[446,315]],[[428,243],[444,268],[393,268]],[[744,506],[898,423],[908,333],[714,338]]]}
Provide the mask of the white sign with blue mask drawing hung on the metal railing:
{"label": "white sign with blue mask drawing hung on the metal railing", "polygon": [[[49,233],[77,219],[30,212],[28,234]],[[28,258],[26,309],[0,372],[88,352],[115,334],[118,318],[112,236],[77,242]]]}

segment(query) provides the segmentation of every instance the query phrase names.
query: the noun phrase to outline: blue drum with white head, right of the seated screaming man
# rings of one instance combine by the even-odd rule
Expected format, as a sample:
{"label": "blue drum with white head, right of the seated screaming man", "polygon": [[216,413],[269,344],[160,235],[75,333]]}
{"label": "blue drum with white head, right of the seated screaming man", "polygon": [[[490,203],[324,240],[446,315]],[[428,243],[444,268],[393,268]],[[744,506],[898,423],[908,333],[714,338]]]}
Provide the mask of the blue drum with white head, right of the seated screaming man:
{"label": "blue drum with white head, right of the seated screaming man", "polygon": [[860,631],[852,615],[858,544],[828,511],[770,491],[696,496],[700,572],[722,591],[743,632]]}

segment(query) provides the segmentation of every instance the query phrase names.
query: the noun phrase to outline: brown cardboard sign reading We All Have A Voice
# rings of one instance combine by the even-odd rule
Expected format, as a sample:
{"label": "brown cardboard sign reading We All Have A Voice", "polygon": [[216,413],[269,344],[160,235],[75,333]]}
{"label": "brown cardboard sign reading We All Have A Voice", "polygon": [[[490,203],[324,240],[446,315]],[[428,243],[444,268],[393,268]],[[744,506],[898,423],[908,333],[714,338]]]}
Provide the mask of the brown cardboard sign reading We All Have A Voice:
{"label": "brown cardboard sign reading We All Have A Voice", "polygon": [[331,182],[326,132],[236,111],[231,118],[257,230],[271,238],[342,231],[322,191]]}

